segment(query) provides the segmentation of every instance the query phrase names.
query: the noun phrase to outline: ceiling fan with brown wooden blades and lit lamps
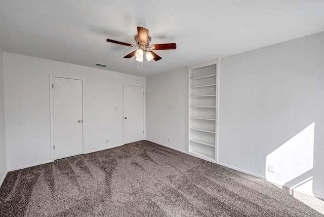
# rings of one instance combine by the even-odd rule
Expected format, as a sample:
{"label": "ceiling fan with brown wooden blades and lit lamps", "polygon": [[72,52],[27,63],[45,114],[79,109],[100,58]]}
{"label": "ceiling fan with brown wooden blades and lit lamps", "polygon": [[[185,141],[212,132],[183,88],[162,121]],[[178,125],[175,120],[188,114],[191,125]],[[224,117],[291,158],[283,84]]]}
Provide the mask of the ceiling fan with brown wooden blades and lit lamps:
{"label": "ceiling fan with brown wooden blades and lit lamps", "polygon": [[148,61],[154,59],[155,61],[162,59],[160,56],[158,56],[151,50],[171,50],[176,49],[177,45],[176,43],[169,43],[169,44],[157,44],[157,45],[151,45],[149,46],[151,42],[151,37],[148,35],[148,29],[137,26],[137,34],[134,35],[134,39],[136,41],[136,45],[128,44],[125,42],[118,42],[115,40],[107,39],[107,42],[119,44],[119,45],[126,45],[130,47],[138,47],[139,49],[136,51],[133,51],[132,53],[124,56],[124,58],[131,58],[133,56],[136,56],[136,60],[139,62],[143,62],[143,56],[145,53],[146,59]]}

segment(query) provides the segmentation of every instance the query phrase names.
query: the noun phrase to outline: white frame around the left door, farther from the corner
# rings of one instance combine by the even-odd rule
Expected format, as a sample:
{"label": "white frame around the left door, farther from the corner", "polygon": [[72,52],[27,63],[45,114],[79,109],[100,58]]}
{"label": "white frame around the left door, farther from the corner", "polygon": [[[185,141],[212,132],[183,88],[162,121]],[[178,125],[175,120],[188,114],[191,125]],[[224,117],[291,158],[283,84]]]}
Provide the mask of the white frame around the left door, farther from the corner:
{"label": "white frame around the left door, farther from the corner", "polygon": [[[84,111],[85,111],[85,94],[84,94],[84,85],[85,85],[85,79],[84,78],[78,78],[78,77],[72,77],[72,76],[64,76],[64,75],[57,75],[57,74],[50,74],[50,82],[49,82],[49,88],[50,88],[50,127],[51,127],[51,142],[50,142],[50,150],[51,150],[51,162],[55,160],[54,158],[54,102],[53,102],[53,78],[63,78],[63,79],[75,79],[75,80],[81,80],[82,81],[82,120],[84,120]],[[82,123],[82,153],[85,154],[84,149],[84,122]]]}

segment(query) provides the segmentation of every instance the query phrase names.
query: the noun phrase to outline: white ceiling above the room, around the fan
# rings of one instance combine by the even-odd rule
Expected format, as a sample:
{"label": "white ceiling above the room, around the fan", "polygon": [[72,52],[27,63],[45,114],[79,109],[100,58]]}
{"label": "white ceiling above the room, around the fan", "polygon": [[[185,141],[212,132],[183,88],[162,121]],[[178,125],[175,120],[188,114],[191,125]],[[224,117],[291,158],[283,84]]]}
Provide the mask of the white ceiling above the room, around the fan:
{"label": "white ceiling above the room, around the fan", "polygon": [[[159,61],[123,58],[137,26]],[[323,0],[0,0],[0,48],[6,52],[150,76],[324,31]],[[145,59],[145,58],[144,58]],[[108,73],[108,71],[107,71]]]}

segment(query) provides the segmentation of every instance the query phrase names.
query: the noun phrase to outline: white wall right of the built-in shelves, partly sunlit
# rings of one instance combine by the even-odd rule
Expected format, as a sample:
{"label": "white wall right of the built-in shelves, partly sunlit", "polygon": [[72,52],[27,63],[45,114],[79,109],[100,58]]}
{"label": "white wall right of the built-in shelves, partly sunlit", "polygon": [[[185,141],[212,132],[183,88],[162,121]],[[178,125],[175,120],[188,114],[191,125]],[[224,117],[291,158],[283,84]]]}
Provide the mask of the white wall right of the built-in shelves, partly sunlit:
{"label": "white wall right of the built-in shelves, partly sunlit", "polygon": [[219,162],[324,197],[323,60],[324,32],[222,58]]}

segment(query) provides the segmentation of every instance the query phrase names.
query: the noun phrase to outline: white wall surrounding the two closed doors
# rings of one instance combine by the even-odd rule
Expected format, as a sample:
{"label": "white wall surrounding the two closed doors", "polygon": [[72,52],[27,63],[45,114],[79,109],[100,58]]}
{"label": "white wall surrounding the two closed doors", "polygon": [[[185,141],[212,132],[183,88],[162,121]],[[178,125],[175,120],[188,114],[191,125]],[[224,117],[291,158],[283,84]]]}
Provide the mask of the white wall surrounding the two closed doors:
{"label": "white wall surrounding the two closed doors", "polygon": [[[122,84],[145,86],[146,80],[144,77],[4,52],[8,170],[51,160],[49,74],[85,79],[85,153],[121,145]],[[108,144],[106,138],[109,138]]]}

